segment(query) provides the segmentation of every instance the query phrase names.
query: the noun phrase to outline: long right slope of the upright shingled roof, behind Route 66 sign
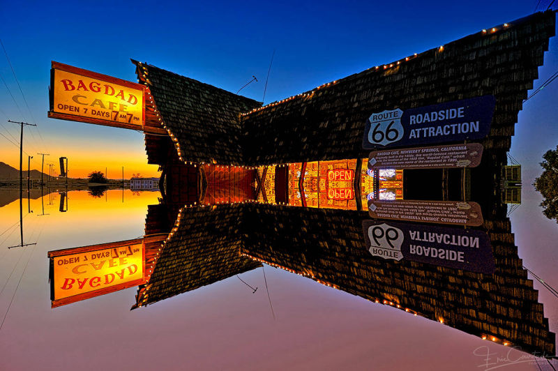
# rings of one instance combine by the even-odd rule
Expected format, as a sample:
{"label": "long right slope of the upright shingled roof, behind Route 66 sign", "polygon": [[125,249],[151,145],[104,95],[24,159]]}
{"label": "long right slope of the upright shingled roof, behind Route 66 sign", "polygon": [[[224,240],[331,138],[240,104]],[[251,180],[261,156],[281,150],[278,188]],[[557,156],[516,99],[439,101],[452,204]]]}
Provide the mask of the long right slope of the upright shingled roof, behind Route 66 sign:
{"label": "long right slope of the upright shingled roof, behind Route 66 sign", "polygon": [[373,112],[489,94],[496,109],[483,145],[509,148],[554,35],[555,12],[548,10],[257,108],[242,116],[246,163],[365,157],[363,128]]}

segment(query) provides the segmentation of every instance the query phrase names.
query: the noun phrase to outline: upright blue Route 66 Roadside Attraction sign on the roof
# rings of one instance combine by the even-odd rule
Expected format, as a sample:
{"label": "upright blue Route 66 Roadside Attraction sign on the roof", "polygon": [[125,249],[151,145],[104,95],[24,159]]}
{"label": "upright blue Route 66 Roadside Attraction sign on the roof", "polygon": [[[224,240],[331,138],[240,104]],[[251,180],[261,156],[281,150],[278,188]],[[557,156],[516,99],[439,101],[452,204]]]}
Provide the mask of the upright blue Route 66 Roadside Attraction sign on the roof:
{"label": "upright blue Route 66 Roadside Attraction sign on the roof", "polygon": [[483,139],[490,132],[494,96],[481,96],[411,109],[370,114],[363,149],[418,146]]}

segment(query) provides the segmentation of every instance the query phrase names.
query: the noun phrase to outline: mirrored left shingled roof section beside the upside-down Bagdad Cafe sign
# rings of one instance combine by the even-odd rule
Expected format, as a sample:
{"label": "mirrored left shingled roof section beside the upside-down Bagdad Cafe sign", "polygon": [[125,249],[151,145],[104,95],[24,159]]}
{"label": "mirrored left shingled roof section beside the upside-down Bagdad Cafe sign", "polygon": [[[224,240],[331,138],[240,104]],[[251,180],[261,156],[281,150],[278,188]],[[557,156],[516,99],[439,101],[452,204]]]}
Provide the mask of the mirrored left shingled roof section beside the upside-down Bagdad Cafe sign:
{"label": "mirrored left shingled roof section beside the upside-down Bagdad Cafe sign", "polygon": [[149,284],[140,288],[133,308],[261,266],[240,255],[242,218],[240,205],[220,206],[215,210],[192,208],[179,213],[156,264],[147,267],[152,271],[148,271]]}

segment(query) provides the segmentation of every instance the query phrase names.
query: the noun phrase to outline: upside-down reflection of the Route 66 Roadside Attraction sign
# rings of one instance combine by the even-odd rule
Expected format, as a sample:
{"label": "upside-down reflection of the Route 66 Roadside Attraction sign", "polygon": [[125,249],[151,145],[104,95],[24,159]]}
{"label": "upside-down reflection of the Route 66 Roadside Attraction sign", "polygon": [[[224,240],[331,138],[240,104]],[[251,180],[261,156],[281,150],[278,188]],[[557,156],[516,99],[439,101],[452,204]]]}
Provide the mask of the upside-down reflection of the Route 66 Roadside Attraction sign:
{"label": "upside-down reflection of the Route 66 Roadside Attraction sign", "polygon": [[366,249],[375,257],[485,274],[495,270],[492,246],[483,231],[364,220],[363,232]]}

